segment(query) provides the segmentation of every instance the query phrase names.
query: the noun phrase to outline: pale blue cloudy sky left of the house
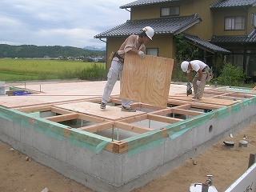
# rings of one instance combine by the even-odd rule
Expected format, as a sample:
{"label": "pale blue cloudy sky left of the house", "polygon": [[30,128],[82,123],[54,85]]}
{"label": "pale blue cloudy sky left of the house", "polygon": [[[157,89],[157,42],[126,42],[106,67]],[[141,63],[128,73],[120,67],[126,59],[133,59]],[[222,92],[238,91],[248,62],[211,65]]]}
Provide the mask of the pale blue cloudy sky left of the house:
{"label": "pale blue cloudy sky left of the house", "polygon": [[0,44],[102,48],[94,36],[129,20],[119,6],[134,1],[0,0]]}

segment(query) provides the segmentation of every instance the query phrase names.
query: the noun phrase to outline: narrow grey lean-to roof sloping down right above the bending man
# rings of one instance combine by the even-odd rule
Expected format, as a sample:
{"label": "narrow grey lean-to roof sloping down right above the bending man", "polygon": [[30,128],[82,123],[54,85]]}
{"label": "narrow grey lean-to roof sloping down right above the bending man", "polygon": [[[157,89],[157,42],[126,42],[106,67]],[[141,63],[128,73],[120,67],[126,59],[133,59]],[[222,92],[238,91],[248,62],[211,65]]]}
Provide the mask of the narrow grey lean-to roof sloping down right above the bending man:
{"label": "narrow grey lean-to roof sloping down right above the bending man", "polygon": [[225,50],[220,46],[216,46],[210,42],[203,41],[201,38],[193,34],[183,34],[185,40],[190,42],[191,44],[202,48],[203,50],[207,50],[210,53],[222,53],[222,54],[230,54],[229,50]]}

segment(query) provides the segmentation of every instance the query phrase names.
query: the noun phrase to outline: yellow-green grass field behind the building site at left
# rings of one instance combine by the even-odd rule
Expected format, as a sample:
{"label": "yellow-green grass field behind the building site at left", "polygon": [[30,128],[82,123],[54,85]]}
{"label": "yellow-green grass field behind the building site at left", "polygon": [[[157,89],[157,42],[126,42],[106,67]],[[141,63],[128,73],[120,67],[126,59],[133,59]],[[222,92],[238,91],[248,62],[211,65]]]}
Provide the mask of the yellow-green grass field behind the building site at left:
{"label": "yellow-green grass field behind the building site at left", "polygon": [[106,63],[0,59],[0,81],[26,81],[63,78],[94,79],[106,77]]}

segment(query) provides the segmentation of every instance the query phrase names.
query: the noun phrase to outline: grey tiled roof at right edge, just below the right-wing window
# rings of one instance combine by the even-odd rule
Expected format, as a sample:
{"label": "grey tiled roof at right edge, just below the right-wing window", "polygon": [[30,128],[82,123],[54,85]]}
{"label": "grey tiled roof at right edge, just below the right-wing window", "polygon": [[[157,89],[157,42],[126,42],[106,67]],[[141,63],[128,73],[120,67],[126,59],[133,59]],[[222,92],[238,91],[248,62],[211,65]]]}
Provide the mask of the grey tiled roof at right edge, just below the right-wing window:
{"label": "grey tiled roof at right edge, just below the right-wing window", "polygon": [[256,29],[252,30],[249,35],[222,35],[210,38],[213,43],[253,43],[256,42]]}

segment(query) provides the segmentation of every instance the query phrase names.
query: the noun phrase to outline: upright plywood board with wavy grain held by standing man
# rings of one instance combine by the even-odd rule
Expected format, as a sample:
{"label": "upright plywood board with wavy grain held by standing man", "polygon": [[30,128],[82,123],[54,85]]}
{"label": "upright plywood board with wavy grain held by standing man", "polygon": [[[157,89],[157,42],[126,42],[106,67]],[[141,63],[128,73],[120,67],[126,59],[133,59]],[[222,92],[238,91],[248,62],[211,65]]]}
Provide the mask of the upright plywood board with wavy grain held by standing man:
{"label": "upright plywood board with wavy grain held by standing man", "polygon": [[126,54],[121,85],[121,98],[166,107],[174,59]]}

